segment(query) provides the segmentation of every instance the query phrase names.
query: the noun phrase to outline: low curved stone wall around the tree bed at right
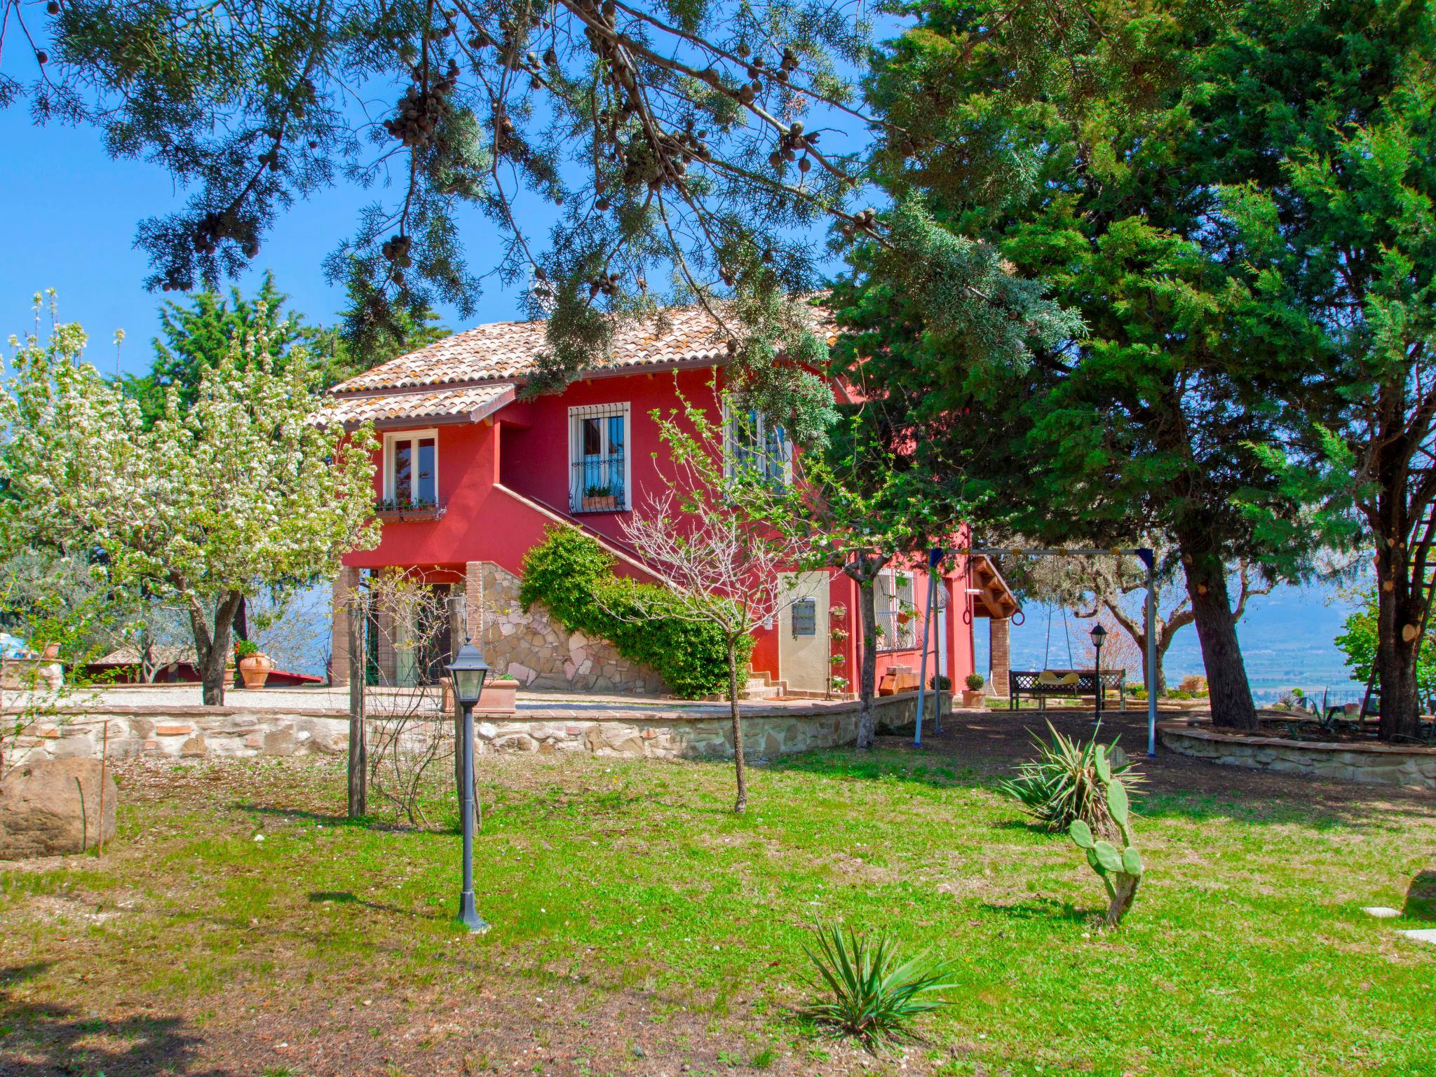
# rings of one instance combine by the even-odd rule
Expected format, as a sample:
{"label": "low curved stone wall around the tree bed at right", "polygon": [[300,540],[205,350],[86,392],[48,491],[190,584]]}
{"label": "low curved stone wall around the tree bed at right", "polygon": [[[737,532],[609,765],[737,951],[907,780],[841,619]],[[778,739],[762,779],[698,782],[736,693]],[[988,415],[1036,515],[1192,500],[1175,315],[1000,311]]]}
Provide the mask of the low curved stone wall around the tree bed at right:
{"label": "low curved stone wall around the tree bed at right", "polygon": [[1157,740],[1172,751],[1229,767],[1279,770],[1369,785],[1436,788],[1436,748],[1236,737],[1185,722],[1157,722]]}

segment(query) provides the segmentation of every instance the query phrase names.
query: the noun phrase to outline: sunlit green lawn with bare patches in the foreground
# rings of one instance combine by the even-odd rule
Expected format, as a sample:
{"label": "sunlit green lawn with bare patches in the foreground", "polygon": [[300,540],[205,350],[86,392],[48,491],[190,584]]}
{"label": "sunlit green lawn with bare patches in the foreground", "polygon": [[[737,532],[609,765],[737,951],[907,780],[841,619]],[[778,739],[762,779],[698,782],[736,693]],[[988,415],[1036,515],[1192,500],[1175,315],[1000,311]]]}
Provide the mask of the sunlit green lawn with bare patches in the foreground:
{"label": "sunlit green lawn with bare patches in the foreground", "polygon": [[[131,765],[103,862],[0,870],[0,1063],[27,1077],[1436,1071],[1436,946],[1360,910],[1402,908],[1432,867],[1436,800],[1162,775],[1136,821],[1146,882],[1106,933],[1077,850],[1027,827],[992,790],[997,767],[949,740],[951,755],[760,768],[745,817],[727,810],[725,764],[481,760],[484,938],[449,920],[454,833],[336,819],[332,761]],[[902,1054],[873,1060],[793,1015],[808,931],[837,919],[956,964],[954,1005]]]}

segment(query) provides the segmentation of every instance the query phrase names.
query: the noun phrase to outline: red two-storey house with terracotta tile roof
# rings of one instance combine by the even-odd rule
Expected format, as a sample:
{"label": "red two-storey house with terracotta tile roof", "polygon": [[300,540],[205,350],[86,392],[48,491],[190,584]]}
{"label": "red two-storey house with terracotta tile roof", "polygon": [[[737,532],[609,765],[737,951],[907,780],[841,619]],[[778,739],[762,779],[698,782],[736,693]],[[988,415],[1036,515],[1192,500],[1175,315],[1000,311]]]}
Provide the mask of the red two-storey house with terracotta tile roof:
{"label": "red two-storey house with terracotta tile roof", "polygon": [[[462,589],[470,635],[495,671],[526,685],[665,691],[652,669],[629,662],[606,640],[570,633],[543,609],[526,613],[520,573],[524,554],[547,527],[561,523],[606,546],[619,572],[652,579],[622,530],[635,505],[665,488],[659,468],[666,451],[651,412],[676,408],[679,395],[714,401],[717,409],[725,339],[705,312],[676,310],[662,329],[620,329],[609,359],[561,393],[518,401],[544,348],[544,325],[500,322],[337,385],[326,421],[372,421],[383,442],[375,501],[385,523],[379,546],[345,557],[335,582],[333,679],[346,679],[349,668],[343,597],[368,570],[418,576],[439,592]],[[785,468],[783,431],[752,418],[765,465]],[[754,694],[824,695],[836,685],[844,695],[856,686],[857,586],[840,573],[814,573],[804,592],[781,623],[757,633]],[[893,666],[916,673],[926,593],[920,567],[885,574],[877,595],[880,675]],[[941,579],[938,595],[929,675],[936,668],[961,686],[974,668],[974,619],[988,616],[997,619],[994,655],[1005,681],[1005,617],[1017,606],[992,566],[972,559]],[[434,640],[431,649],[447,653],[448,640]],[[435,668],[429,663],[425,673],[422,663],[411,665],[388,673],[402,681],[432,676]]]}

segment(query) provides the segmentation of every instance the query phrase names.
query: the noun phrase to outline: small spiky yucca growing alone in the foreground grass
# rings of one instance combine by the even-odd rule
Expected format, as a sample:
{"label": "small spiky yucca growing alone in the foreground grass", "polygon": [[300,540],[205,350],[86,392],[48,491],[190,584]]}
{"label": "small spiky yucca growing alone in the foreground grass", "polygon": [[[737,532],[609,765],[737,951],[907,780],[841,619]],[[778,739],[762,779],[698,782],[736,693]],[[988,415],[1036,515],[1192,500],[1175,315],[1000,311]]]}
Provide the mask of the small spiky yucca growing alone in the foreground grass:
{"label": "small spiky yucca growing alone in the foreground grass", "polygon": [[[892,938],[846,935],[840,926],[817,931],[817,949],[804,945],[821,979],[808,979],[824,997],[808,1002],[803,1015],[853,1035],[869,1048],[910,1037],[908,1022],[948,1005],[932,998],[956,987],[948,982],[949,964],[926,951],[902,961]],[[831,998],[829,998],[831,995]]]}

